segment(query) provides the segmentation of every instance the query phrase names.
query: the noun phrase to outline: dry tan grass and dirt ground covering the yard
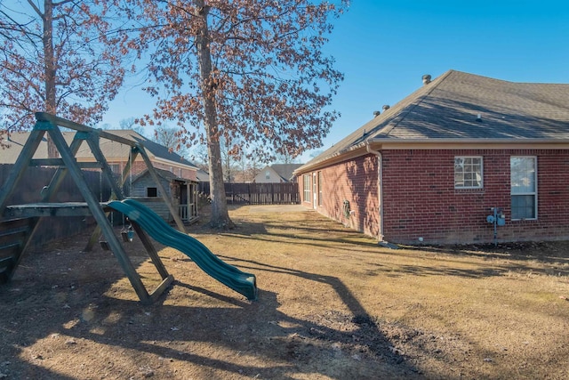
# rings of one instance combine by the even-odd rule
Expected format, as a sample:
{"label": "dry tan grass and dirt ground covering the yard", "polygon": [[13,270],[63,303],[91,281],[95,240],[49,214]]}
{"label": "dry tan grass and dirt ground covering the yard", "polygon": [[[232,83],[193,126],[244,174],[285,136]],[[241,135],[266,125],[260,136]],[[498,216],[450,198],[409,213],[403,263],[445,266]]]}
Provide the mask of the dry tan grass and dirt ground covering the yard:
{"label": "dry tan grass and dirt ground covering the yard", "polygon": [[53,243],[0,286],[0,378],[569,378],[567,242],[395,250],[312,211],[230,214],[188,231],[256,275],[257,301],[156,245],[175,281],[144,306],[89,234]]}

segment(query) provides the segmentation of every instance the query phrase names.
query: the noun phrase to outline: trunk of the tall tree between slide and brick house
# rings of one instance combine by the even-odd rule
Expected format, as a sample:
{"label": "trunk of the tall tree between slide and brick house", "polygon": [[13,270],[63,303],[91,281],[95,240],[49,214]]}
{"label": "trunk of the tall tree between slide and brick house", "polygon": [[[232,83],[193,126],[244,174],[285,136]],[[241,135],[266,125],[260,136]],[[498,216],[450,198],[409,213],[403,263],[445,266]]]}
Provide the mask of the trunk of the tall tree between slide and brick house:
{"label": "trunk of the tall tree between slide and brick house", "polygon": [[212,53],[210,51],[210,36],[207,24],[209,8],[204,6],[204,0],[196,0],[196,6],[198,8],[196,17],[201,20],[196,38],[196,49],[201,79],[200,87],[204,101],[204,128],[207,137],[207,152],[209,154],[210,198],[212,199],[210,225],[213,228],[228,229],[234,228],[235,224],[229,219],[225,186],[223,184],[220,133],[217,124],[215,83],[212,78]]}

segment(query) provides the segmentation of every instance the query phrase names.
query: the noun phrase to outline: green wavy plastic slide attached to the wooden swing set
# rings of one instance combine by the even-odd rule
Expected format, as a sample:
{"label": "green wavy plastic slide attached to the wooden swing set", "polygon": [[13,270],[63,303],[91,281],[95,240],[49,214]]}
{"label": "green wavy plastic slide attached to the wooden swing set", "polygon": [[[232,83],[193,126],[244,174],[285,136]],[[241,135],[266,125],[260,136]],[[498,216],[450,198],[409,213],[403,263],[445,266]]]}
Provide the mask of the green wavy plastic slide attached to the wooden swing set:
{"label": "green wavy plastic slide attached to the wooden swing set", "polygon": [[108,206],[125,214],[132,222],[139,224],[152,239],[188,255],[202,271],[212,276],[213,279],[217,279],[220,283],[244,295],[249,300],[257,299],[257,282],[254,274],[239,271],[233,265],[220,260],[200,241],[174,230],[147,206],[134,199],[115,200],[109,202]]}

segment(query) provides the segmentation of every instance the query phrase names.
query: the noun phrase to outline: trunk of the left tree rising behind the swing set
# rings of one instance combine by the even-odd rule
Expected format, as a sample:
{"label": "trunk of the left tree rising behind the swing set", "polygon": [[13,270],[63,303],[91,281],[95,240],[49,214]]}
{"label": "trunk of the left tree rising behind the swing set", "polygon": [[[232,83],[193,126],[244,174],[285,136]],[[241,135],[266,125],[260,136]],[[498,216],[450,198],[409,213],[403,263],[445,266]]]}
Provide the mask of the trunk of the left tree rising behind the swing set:
{"label": "trunk of the left tree rising behind the swing set", "polygon": [[[45,112],[56,114],[55,72],[56,64],[53,53],[53,3],[44,0],[44,75],[45,75]],[[47,157],[57,158],[57,148],[49,133],[47,134]]]}

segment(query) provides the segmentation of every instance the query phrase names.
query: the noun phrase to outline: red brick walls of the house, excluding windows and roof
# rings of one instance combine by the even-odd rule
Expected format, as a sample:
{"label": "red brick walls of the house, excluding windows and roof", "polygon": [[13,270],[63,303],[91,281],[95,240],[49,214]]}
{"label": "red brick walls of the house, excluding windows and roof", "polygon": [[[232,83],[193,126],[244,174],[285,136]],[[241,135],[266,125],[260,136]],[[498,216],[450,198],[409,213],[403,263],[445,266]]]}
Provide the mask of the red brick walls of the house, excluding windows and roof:
{"label": "red brick walls of the house, excluding windows and roof", "polygon": [[[455,156],[483,157],[483,189],[454,189]],[[537,157],[537,220],[510,218],[510,156]],[[420,244],[421,237],[424,244],[493,242],[493,225],[486,222],[493,206],[506,214],[506,225],[498,227],[498,241],[569,239],[569,152],[565,150],[384,150],[382,158],[387,241]],[[317,211],[378,236],[377,158],[343,162],[323,169],[323,174],[324,205]],[[302,191],[303,182],[299,183]],[[349,218],[343,215],[344,199],[356,212]]]}

